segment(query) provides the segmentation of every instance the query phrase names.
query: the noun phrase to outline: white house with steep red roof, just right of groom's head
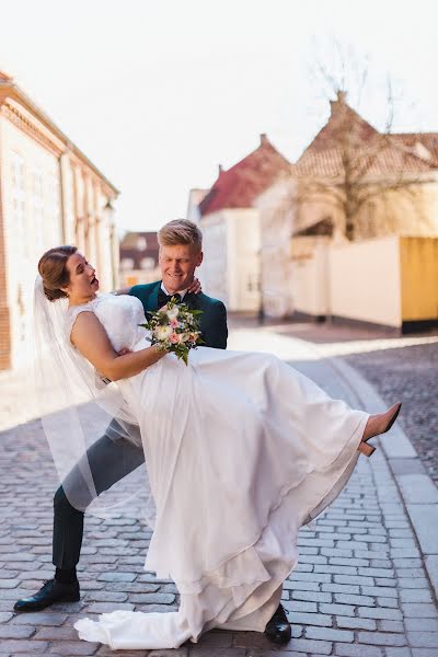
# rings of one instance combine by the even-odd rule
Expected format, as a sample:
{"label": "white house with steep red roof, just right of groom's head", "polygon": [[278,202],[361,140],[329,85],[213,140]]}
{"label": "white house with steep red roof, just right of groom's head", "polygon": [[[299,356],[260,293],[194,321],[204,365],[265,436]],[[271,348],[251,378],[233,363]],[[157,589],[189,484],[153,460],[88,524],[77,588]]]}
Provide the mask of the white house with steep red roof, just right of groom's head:
{"label": "white house with steep red roof, just right of groom's head", "polygon": [[198,211],[205,260],[199,277],[207,293],[231,311],[260,310],[262,238],[254,201],[289,169],[289,162],[261,135],[254,151],[227,171],[220,166],[211,189],[201,191]]}

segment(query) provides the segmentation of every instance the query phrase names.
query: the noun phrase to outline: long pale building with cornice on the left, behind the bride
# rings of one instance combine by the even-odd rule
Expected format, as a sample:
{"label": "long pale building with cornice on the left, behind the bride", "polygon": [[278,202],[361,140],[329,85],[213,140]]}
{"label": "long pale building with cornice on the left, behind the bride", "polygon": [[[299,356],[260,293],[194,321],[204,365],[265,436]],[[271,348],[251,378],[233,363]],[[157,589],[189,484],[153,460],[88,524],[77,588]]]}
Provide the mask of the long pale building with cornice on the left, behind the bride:
{"label": "long pale building with cornice on the left, behind the bride", "polygon": [[0,71],[0,369],[28,362],[36,265],[76,244],[105,290],[117,286],[114,185]]}

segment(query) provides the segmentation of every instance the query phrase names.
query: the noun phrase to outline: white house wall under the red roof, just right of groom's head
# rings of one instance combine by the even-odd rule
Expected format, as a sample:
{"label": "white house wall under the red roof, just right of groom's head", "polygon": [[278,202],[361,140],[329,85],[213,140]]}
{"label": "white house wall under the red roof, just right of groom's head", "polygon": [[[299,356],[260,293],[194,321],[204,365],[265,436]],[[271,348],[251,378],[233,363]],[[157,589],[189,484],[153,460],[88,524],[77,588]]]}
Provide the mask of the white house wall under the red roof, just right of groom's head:
{"label": "white house wall under the red roof, just right of groom's head", "polygon": [[254,208],[226,209],[201,218],[204,263],[199,278],[207,295],[229,311],[260,309],[260,214]]}

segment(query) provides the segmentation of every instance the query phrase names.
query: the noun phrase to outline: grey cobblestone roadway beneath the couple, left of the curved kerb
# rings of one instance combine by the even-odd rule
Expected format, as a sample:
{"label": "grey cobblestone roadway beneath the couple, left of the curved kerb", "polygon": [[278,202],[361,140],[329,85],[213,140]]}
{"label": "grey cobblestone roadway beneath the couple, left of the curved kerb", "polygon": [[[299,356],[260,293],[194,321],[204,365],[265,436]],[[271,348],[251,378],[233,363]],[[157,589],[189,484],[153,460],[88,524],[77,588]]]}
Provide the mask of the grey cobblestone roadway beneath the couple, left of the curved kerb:
{"label": "grey cobblestone roadway beneath the couple, left of the curved kerb", "polygon": [[[360,405],[351,381],[331,359],[320,359],[301,339],[277,337],[272,332],[237,332],[231,343],[276,350],[332,395]],[[174,585],[143,572],[150,533],[137,521],[122,518],[88,519],[80,602],[13,614],[13,602],[53,575],[56,475],[38,420],[0,434],[0,657],[438,656],[434,590],[383,450],[370,460],[361,457],[315,530],[301,531],[300,563],[284,588],[293,638],[283,648],[262,634],[231,632],[210,632],[196,646],[149,653],[112,653],[79,641],[72,627],[79,616],[115,608],[169,611],[177,606]]]}

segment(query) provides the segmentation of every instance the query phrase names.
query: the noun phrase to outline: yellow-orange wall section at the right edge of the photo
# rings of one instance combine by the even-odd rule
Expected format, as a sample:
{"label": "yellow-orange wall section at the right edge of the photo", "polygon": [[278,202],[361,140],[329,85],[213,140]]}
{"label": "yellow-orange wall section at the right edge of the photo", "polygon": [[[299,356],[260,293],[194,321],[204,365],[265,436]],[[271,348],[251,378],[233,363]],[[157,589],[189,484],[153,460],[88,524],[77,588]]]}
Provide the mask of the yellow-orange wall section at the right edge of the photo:
{"label": "yellow-orange wall section at the right edge of the photo", "polygon": [[438,319],[438,238],[400,238],[402,319]]}

